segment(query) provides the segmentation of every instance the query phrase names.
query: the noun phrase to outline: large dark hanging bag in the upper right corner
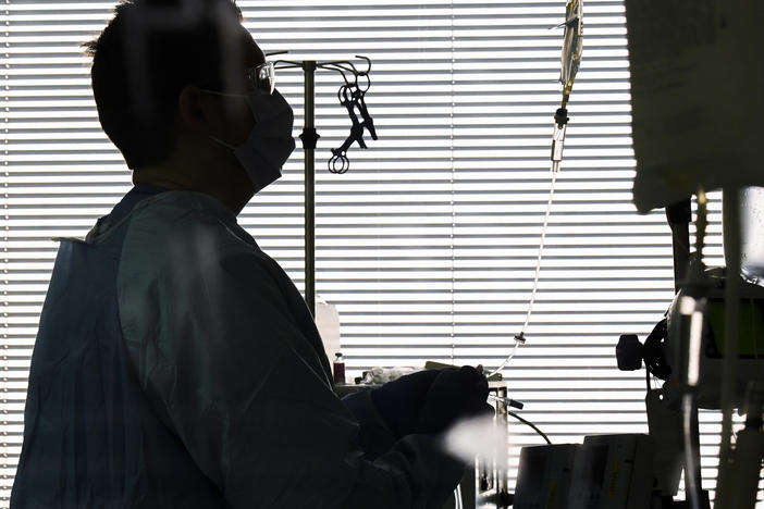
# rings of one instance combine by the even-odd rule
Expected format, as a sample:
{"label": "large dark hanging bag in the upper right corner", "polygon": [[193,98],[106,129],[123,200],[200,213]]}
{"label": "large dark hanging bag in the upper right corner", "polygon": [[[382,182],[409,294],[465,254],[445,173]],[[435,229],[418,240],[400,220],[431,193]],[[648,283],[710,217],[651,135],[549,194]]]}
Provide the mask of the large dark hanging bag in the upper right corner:
{"label": "large dark hanging bag in the upper right corner", "polygon": [[626,0],[640,212],[764,185],[764,2]]}

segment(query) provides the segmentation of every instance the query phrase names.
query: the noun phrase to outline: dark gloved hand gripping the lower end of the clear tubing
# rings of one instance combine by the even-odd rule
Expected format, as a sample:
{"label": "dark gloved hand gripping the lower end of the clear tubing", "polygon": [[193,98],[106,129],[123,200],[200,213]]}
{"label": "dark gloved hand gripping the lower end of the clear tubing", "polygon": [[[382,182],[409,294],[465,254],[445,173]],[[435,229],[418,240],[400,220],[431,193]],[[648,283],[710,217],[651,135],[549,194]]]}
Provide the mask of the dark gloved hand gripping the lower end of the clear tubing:
{"label": "dark gloved hand gripping the lower end of the clear tubing", "polygon": [[442,370],[424,398],[417,433],[436,435],[460,419],[492,415],[488,395],[488,380],[475,368]]}

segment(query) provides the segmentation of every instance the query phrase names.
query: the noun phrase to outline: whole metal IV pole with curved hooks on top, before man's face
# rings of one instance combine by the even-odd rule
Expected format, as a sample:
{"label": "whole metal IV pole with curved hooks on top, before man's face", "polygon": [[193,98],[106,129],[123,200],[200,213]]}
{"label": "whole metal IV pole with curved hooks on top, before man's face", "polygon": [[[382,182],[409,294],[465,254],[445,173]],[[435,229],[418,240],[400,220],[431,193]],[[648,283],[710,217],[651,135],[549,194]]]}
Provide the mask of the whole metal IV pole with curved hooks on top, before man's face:
{"label": "whole metal IV pole with curved hooks on top, before man's face", "polygon": [[[273,53],[275,54],[275,53]],[[316,145],[320,138],[316,131],[316,71],[326,69],[358,76],[367,76],[371,71],[371,61],[356,55],[367,62],[366,71],[358,71],[352,62],[345,60],[318,62],[316,60],[276,60],[275,69],[301,69],[305,75],[305,126],[299,139],[305,152],[305,301],[310,314],[316,315]]]}

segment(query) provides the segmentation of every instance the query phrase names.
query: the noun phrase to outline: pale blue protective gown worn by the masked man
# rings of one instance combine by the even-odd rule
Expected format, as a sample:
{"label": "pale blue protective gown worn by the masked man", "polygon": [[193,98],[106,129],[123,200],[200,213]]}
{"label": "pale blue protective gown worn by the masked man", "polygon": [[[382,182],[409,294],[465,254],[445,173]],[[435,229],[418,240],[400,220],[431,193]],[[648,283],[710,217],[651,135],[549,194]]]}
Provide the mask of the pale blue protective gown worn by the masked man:
{"label": "pale blue protective gown worn by the masked man", "polygon": [[438,509],[463,472],[336,398],[301,296],[214,198],[134,189],[61,243],[13,509]]}

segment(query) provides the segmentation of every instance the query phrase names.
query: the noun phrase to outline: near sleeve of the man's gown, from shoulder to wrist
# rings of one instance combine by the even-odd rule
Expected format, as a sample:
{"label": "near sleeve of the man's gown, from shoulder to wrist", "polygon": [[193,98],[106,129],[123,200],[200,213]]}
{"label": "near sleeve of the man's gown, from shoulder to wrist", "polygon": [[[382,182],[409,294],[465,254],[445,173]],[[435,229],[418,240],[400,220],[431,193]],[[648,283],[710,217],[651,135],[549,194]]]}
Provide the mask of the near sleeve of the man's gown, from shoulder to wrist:
{"label": "near sleeve of the man's gown, from shoulder to wrist", "polygon": [[262,252],[187,209],[134,211],[120,319],[157,413],[231,507],[439,509],[464,464],[427,435],[365,459]]}

